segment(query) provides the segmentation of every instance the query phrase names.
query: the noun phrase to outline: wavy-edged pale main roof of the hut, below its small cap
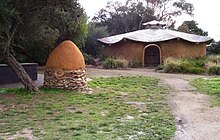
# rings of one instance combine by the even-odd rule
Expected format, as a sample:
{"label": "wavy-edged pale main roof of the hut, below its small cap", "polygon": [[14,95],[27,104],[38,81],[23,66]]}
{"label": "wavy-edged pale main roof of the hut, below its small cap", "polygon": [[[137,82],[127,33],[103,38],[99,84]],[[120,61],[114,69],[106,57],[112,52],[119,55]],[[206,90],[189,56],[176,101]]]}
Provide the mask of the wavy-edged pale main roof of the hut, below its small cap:
{"label": "wavy-edged pale main roof of the hut, below its small cap", "polygon": [[125,34],[119,34],[119,35],[101,38],[98,39],[98,41],[110,45],[110,44],[118,43],[123,39],[128,39],[138,42],[146,42],[146,43],[153,43],[153,42],[155,43],[155,42],[167,41],[171,39],[183,39],[193,43],[203,43],[212,40],[212,38],[210,37],[172,31],[169,29],[144,29],[144,30],[138,30]]}

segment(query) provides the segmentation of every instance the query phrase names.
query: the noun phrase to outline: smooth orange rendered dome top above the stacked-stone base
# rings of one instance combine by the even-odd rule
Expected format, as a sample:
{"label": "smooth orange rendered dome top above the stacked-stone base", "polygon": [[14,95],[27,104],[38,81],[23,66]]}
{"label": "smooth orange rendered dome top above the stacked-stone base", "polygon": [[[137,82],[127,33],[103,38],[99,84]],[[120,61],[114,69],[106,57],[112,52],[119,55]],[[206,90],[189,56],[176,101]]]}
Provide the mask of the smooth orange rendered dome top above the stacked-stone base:
{"label": "smooth orange rendered dome top above the stacked-stone base", "polygon": [[52,51],[46,68],[77,70],[85,68],[85,61],[78,47],[72,41],[66,40]]}

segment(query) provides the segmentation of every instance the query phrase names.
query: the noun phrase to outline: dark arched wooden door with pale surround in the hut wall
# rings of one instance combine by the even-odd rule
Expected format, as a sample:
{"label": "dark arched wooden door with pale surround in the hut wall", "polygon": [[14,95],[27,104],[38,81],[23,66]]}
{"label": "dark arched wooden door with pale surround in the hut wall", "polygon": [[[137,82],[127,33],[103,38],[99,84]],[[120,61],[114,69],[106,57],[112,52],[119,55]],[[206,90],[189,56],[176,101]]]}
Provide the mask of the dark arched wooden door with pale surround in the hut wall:
{"label": "dark arched wooden door with pale surround in the hut wall", "polygon": [[144,67],[156,67],[161,62],[161,50],[156,44],[147,45],[144,48]]}

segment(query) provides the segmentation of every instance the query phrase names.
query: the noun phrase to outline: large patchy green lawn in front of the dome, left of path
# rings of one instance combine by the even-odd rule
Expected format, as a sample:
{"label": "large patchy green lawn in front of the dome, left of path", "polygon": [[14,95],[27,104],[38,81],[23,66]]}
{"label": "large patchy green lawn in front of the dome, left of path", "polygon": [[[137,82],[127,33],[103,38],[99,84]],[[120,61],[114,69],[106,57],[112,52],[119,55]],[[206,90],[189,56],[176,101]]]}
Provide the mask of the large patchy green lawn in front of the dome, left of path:
{"label": "large patchy green lawn in front of the dome, left of path", "polygon": [[0,90],[0,139],[24,128],[46,140],[170,139],[175,123],[168,90],[158,82],[148,77],[97,78],[89,83],[92,94]]}

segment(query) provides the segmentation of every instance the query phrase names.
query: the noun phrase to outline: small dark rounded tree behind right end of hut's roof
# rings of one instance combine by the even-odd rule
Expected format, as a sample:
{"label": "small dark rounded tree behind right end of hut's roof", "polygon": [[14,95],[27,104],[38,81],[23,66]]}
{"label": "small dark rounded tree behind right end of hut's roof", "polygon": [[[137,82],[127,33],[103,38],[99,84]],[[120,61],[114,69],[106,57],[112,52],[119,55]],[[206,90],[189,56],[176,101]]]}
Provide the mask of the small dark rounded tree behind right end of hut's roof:
{"label": "small dark rounded tree behind right end of hut's roof", "polygon": [[190,33],[190,34],[208,36],[208,32],[203,31],[201,28],[199,28],[198,23],[194,20],[184,21],[182,25],[178,27],[177,30],[181,32],[185,32],[185,33]]}

